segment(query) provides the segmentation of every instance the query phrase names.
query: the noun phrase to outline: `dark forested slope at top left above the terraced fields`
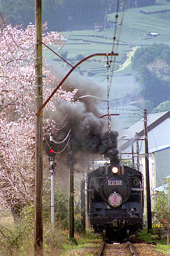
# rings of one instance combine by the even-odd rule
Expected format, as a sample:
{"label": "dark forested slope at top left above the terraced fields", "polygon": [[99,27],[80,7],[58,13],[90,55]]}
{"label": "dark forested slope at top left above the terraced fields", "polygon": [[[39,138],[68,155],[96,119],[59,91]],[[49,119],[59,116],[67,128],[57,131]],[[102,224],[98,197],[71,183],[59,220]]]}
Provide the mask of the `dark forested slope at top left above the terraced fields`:
{"label": "dark forested slope at top left above the terraced fields", "polygon": [[[93,26],[103,23],[106,9],[113,11],[111,0],[42,0],[42,22],[48,21],[49,31]],[[34,23],[34,0],[1,0],[1,13],[12,25],[27,27]]]}

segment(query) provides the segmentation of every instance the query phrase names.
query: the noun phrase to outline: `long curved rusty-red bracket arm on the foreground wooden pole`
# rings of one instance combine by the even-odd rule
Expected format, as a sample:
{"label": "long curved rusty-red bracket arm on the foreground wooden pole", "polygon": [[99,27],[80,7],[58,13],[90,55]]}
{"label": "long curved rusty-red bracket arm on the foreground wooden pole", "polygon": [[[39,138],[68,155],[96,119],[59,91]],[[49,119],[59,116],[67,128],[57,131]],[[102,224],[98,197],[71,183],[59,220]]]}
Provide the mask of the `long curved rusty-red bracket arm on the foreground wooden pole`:
{"label": "long curved rusty-red bracket arm on the foreground wooden pole", "polygon": [[48,99],[44,102],[44,104],[41,106],[41,108],[39,108],[38,112],[35,113],[36,116],[39,116],[39,114],[41,113],[41,110],[46,106],[46,104],[50,101],[50,99],[53,97],[53,95],[56,93],[56,91],[58,90],[58,88],[60,88],[60,86],[65,82],[65,80],[68,78],[68,76],[72,73],[72,71],[78,67],[82,62],[95,57],[95,56],[118,56],[118,53],[94,53],[91,54],[89,56],[87,56],[86,58],[84,58],[83,60],[80,60],[74,67],[72,67],[72,69],[67,73],[67,75],[63,78],[63,80],[58,84],[58,86],[56,87],[56,89],[54,89],[54,91],[52,92],[52,94],[48,97]]}

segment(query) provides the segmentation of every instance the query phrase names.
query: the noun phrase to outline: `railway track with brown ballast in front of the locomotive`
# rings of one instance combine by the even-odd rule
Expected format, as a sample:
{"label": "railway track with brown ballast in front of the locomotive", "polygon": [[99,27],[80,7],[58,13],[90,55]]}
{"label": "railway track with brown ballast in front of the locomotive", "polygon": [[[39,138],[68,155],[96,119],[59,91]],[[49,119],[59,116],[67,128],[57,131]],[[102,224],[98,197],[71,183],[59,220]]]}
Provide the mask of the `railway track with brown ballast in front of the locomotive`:
{"label": "railway track with brown ballast in front of the locomotive", "polygon": [[99,249],[98,256],[137,256],[135,249],[130,242],[124,244],[106,244],[104,241]]}

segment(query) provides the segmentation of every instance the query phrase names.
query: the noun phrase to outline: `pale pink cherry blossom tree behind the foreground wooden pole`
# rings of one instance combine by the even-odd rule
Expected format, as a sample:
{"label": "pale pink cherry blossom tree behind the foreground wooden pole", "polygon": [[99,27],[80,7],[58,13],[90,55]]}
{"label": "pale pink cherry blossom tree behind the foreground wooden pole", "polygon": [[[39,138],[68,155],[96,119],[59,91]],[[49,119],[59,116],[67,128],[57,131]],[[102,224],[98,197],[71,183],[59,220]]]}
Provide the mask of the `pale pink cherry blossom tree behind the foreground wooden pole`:
{"label": "pale pink cherry blossom tree behind the foreground wooden pole", "polygon": [[[35,147],[35,27],[0,26],[0,197],[15,220],[24,206],[34,200],[34,147]],[[61,47],[63,35],[45,33],[42,41]],[[46,100],[56,86],[52,67],[43,59],[43,95]],[[54,112],[55,102],[63,99],[73,103],[73,93],[61,88],[46,106]],[[46,125],[49,126],[47,120]]]}

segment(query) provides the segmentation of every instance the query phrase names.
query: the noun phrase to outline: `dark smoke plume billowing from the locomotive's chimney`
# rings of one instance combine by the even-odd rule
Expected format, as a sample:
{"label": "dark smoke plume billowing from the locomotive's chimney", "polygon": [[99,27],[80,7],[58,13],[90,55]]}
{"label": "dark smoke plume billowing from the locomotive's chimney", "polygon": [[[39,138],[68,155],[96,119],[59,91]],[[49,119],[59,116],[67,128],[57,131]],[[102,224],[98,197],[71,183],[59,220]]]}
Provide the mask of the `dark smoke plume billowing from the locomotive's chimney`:
{"label": "dark smoke plume billowing from the locomotive's chimney", "polygon": [[[63,70],[61,73],[64,77]],[[62,79],[61,75],[60,79]],[[103,99],[107,95],[107,89],[103,88],[102,84],[87,76],[81,76],[77,72],[67,78],[62,86],[64,90],[69,90],[70,87],[79,89],[76,97],[94,95]],[[99,118],[102,115],[98,111],[99,100],[90,97],[83,98],[80,102],[76,100],[77,98],[75,98],[75,106],[69,106],[65,102],[58,101],[58,113],[54,117],[57,121],[60,121],[67,114],[67,125],[61,129],[60,133],[57,133],[57,136],[61,136],[61,139],[63,139],[68,130],[71,129],[71,139],[67,147],[69,154],[73,155],[78,152],[98,153],[106,159],[118,159],[118,133],[116,131],[110,131],[109,133],[107,117]],[[57,117],[60,117],[60,120]]]}

